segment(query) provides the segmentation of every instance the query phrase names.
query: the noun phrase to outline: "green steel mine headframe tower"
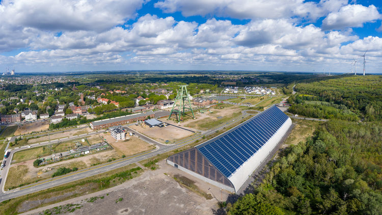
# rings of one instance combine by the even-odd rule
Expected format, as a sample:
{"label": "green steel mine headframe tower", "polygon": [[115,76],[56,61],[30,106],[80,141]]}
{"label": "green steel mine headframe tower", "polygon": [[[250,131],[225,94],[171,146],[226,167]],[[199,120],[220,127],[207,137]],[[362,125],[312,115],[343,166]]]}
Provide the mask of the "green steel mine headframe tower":
{"label": "green steel mine headframe tower", "polygon": [[191,102],[189,101],[187,85],[179,85],[179,90],[177,92],[169,119],[171,118],[173,113],[175,113],[177,115],[176,118],[178,120],[178,123],[180,123],[180,116],[185,115],[185,109],[191,110],[191,113],[193,114],[193,117],[195,119],[194,111],[191,107]]}

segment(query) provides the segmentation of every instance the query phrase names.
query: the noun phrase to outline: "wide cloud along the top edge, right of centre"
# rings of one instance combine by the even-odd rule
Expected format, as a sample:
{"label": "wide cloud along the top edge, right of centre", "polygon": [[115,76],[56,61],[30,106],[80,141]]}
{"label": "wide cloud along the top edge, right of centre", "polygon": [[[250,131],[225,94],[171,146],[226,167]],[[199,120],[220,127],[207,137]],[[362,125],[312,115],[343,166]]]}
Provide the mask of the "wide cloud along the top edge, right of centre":
{"label": "wide cloud along the top edge, right of centre", "polygon": [[317,19],[347,4],[347,0],[326,0],[320,3],[303,0],[164,0],[155,7],[167,13],[181,11],[184,16],[217,15],[238,19],[290,18]]}

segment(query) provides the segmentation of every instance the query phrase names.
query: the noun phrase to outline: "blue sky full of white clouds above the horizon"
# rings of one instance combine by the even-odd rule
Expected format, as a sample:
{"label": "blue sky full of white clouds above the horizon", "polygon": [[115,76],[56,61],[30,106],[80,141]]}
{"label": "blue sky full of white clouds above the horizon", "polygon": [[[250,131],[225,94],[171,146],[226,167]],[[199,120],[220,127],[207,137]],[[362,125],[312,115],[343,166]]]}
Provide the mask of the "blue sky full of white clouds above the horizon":
{"label": "blue sky full of white clouds above the horizon", "polygon": [[0,0],[0,72],[382,72],[380,0]]}

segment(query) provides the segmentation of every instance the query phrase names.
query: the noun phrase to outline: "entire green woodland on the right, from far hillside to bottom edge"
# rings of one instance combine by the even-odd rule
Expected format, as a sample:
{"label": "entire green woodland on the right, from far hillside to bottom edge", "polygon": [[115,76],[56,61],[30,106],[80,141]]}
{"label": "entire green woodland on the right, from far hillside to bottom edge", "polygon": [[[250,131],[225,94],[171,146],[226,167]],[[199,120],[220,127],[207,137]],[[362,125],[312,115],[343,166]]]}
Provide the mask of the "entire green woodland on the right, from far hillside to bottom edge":
{"label": "entire green woodland on the right, from far hillside to bottom edge", "polygon": [[330,120],[268,163],[260,185],[230,196],[226,212],[382,214],[381,78],[319,77],[296,84],[289,112]]}

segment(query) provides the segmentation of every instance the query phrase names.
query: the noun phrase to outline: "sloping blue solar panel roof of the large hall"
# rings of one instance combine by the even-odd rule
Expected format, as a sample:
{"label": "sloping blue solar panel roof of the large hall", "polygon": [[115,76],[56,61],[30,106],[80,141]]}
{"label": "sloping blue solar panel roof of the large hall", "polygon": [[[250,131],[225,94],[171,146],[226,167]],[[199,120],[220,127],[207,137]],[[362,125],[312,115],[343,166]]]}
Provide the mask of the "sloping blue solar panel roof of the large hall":
{"label": "sloping blue solar panel roof of the large hall", "polygon": [[287,119],[288,116],[274,105],[196,148],[228,178],[252,157]]}

